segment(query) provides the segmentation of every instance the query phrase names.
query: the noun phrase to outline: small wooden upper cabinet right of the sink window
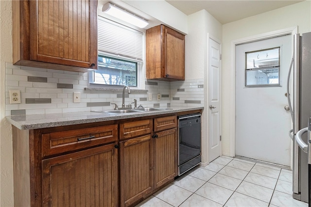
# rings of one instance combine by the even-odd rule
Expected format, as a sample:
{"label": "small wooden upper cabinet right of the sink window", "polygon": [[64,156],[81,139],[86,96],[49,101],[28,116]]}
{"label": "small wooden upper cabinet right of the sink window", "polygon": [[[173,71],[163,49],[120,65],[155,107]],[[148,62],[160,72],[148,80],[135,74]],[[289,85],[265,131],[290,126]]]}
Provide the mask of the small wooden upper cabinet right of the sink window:
{"label": "small wooden upper cabinet right of the sink window", "polygon": [[185,35],[164,25],[146,31],[146,77],[185,80]]}

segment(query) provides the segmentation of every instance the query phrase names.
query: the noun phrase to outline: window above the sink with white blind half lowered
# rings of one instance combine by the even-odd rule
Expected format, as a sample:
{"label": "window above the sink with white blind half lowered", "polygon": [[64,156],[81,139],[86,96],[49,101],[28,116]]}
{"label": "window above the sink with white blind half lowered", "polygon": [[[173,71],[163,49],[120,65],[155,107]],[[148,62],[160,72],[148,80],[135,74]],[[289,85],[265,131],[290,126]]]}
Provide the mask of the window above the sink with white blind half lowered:
{"label": "window above the sink with white blind half lowered", "polygon": [[98,70],[89,83],[98,87],[144,89],[144,33],[98,16]]}

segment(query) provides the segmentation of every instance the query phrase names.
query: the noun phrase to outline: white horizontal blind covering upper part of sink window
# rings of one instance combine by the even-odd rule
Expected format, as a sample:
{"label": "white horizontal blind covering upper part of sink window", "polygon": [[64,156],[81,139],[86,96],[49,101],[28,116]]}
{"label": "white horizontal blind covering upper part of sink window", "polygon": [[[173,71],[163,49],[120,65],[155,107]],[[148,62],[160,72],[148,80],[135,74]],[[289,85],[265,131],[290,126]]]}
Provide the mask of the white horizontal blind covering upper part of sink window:
{"label": "white horizontal blind covering upper part of sink window", "polygon": [[98,51],[142,61],[143,33],[98,16]]}

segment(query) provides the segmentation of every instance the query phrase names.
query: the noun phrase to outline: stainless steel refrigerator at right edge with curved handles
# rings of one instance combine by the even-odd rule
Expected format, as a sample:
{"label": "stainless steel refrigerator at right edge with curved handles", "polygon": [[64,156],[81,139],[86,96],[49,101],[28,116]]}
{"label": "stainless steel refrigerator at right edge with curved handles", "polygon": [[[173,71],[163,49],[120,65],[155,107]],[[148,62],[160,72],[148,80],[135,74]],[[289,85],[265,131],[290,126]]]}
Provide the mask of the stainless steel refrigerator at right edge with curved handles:
{"label": "stainless steel refrigerator at right edge with curved handles", "polygon": [[294,68],[291,96],[294,123],[293,198],[310,203],[308,136],[307,133],[302,133],[302,129],[308,132],[308,120],[311,117],[311,32],[294,35],[291,64]]}

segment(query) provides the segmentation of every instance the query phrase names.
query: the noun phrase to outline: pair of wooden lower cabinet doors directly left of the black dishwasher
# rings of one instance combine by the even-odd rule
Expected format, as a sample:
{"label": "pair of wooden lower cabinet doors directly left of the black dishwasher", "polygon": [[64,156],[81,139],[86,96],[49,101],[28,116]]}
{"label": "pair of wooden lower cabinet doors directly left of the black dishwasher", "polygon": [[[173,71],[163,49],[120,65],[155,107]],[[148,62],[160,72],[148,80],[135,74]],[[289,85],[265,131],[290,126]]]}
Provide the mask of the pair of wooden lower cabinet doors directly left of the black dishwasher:
{"label": "pair of wooden lower cabinet doors directly left of the black dishwasher", "polygon": [[177,129],[171,128],[120,142],[121,207],[134,206],[173,181],[177,141]]}

